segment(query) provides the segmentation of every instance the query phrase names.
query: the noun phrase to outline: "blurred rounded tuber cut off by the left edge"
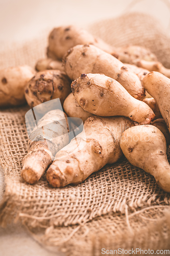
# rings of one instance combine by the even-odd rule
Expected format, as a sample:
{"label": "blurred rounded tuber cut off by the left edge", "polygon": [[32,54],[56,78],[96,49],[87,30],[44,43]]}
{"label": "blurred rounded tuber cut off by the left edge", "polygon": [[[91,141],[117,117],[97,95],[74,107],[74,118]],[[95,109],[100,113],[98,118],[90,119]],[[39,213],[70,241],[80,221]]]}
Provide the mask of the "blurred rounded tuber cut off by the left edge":
{"label": "blurred rounded tuber cut off by the left edge", "polygon": [[25,86],[34,75],[29,66],[0,70],[0,107],[26,103]]}

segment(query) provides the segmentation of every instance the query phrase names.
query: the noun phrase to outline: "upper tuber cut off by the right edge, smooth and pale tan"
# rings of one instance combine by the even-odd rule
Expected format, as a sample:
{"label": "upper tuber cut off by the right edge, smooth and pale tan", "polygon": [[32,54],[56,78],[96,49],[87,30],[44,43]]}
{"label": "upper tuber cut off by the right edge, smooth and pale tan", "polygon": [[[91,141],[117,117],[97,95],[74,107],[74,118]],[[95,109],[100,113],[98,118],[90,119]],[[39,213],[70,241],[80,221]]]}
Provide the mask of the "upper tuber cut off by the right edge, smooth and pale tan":
{"label": "upper tuber cut off by the right edge, smooth and pale tan", "polygon": [[156,100],[160,113],[170,131],[170,79],[159,72],[151,72],[143,78],[143,86]]}

